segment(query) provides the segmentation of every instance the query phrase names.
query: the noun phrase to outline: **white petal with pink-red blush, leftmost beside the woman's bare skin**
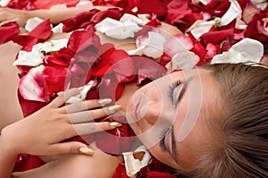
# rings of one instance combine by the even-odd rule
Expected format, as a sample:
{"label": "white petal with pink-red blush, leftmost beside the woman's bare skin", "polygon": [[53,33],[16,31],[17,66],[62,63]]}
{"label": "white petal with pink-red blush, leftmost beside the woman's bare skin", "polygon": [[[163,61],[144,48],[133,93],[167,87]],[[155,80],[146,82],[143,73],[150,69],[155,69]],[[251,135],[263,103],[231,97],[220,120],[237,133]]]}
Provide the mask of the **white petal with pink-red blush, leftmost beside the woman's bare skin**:
{"label": "white petal with pink-red blush, leftmost beside the woman's bare skin", "polygon": [[46,95],[45,81],[42,75],[44,68],[44,65],[32,68],[21,78],[19,91],[24,99],[43,102],[49,100],[49,97]]}

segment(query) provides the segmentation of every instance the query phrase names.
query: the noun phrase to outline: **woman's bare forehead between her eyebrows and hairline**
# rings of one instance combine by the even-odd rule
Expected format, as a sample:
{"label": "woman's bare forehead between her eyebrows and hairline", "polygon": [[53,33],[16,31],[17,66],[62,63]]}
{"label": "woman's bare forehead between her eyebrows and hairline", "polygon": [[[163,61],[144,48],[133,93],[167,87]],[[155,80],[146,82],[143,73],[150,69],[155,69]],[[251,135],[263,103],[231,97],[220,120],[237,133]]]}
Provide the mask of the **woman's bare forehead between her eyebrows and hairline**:
{"label": "woman's bare forehead between her eyebrows and hairline", "polygon": [[200,153],[200,148],[211,142],[208,124],[218,106],[218,86],[210,71],[191,70],[174,72],[172,79],[188,80],[188,89],[177,108],[174,134],[177,141],[180,163],[191,165]]}

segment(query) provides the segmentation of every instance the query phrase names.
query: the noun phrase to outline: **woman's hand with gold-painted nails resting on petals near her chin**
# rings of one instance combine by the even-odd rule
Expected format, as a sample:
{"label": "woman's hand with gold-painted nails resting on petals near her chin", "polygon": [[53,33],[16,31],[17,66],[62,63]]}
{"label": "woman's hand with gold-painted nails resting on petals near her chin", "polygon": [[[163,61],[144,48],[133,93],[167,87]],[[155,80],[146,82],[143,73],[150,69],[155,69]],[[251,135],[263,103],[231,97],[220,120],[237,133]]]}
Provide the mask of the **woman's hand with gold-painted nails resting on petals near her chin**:
{"label": "woman's hand with gold-painted nails resting on petals near her chin", "polygon": [[109,99],[101,102],[99,100],[81,101],[63,106],[68,98],[79,93],[79,89],[70,89],[54,98],[49,105],[38,112],[5,127],[1,133],[3,146],[11,154],[28,153],[47,156],[83,151],[87,153],[87,145],[81,142],[62,141],[76,135],[107,131],[120,126],[120,123],[92,123],[94,119],[113,114],[119,106],[88,110],[109,103]]}

